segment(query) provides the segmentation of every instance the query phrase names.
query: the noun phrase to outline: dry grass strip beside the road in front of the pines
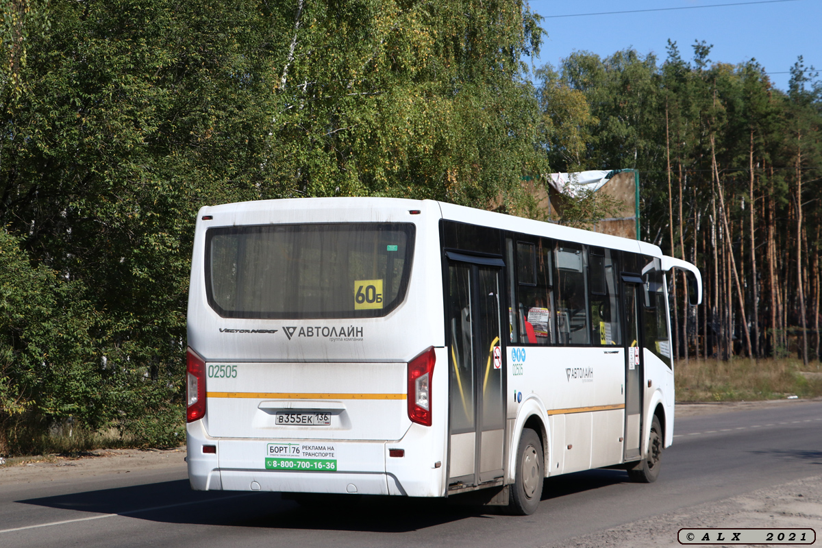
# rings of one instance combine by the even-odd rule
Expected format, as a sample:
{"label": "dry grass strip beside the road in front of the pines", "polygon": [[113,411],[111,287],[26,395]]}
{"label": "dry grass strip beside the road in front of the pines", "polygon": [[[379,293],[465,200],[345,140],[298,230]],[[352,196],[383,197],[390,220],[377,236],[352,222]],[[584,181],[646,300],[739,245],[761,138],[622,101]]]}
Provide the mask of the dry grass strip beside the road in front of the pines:
{"label": "dry grass strip beside the road in front of the pines", "polygon": [[679,360],[674,379],[678,402],[735,402],[822,396],[819,362],[795,358]]}

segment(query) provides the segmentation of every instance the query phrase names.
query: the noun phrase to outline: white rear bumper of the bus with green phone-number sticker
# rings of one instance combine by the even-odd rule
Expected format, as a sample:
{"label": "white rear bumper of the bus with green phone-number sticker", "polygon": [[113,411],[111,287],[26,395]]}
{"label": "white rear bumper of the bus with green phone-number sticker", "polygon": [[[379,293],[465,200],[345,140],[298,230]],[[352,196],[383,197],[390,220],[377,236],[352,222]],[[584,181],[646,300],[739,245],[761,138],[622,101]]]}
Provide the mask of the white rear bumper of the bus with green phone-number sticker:
{"label": "white rear bumper of the bus with green phone-number sticker", "polygon": [[[194,421],[187,425],[188,477],[194,490],[440,497],[445,495],[445,467],[431,435],[413,425],[403,440],[393,442],[213,438],[204,421]],[[204,453],[209,445],[214,454]],[[398,448],[424,449],[403,450],[403,458],[391,456]],[[325,469],[296,469],[306,462]],[[283,465],[292,469],[272,469]]]}

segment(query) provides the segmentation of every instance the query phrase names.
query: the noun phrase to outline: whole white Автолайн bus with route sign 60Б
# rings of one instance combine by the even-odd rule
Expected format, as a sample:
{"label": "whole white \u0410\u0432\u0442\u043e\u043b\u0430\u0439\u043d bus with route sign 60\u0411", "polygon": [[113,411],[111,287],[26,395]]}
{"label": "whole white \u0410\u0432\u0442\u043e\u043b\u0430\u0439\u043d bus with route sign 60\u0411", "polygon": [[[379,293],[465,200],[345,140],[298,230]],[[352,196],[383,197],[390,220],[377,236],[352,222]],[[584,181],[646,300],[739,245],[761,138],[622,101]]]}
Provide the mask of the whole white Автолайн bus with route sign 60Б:
{"label": "whole white \u0410\u0432\u0442\u043e\u043b\u0430\u0439\u043d bus with route sign 60\u0411", "polygon": [[[448,497],[533,513],[543,478],[672,442],[657,246],[432,200],[204,207],[188,299],[196,490]],[[473,495],[471,495],[473,496]]]}

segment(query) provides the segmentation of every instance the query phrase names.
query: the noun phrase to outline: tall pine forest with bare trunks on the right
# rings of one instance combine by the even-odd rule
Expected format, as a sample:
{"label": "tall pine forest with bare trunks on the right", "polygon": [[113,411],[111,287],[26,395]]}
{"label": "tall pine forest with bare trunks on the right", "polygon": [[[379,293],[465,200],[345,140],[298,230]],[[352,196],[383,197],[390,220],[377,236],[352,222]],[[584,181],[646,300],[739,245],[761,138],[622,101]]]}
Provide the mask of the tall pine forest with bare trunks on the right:
{"label": "tall pine forest with bare trunks on the right", "polygon": [[543,67],[543,116],[565,123],[547,126],[552,165],[640,170],[642,239],[703,273],[705,306],[675,316],[680,355],[819,359],[822,83],[799,58],[783,92],[754,59],[710,53],[669,42],[662,63],[629,49]]}

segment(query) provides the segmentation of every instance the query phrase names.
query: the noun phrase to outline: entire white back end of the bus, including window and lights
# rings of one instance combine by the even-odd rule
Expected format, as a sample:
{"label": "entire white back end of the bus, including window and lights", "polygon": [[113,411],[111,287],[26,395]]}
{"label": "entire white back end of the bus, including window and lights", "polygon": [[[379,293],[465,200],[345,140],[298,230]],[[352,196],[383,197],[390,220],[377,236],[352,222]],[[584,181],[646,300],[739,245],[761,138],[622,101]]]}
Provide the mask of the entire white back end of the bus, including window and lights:
{"label": "entire white back end of the bus, including window and lights", "polygon": [[409,200],[200,211],[193,488],[444,494],[441,270],[420,251],[437,249],[438,218],[436,203]]}

